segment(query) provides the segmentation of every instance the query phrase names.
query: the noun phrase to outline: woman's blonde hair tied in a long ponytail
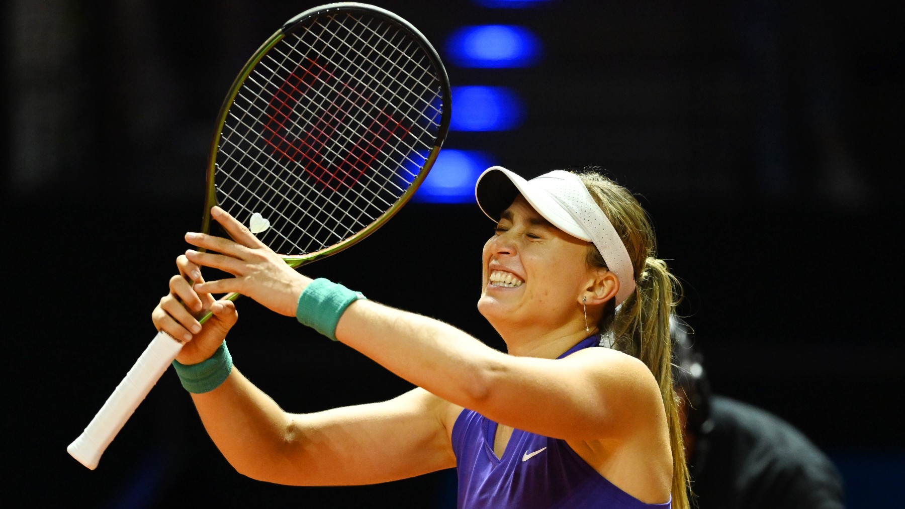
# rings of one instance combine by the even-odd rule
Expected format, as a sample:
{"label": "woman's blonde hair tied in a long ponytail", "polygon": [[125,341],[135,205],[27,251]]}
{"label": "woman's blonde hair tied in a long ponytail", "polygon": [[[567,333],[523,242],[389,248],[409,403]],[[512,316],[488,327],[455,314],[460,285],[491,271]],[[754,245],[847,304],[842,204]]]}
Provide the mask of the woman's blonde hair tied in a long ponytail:
{"label": "woman's blonde hair tied in a long ponytail", "polygon": [[[672,446],[672,507],[689,507],[689,473],[679,420],[679,400],[672,385],[672,340],[670,316],[678,304],[681,285],[666,262],[656,257],[653,225],[641,204],[623,186],[616,184],[599,168],[574,172],[585,184],[595,202],[613,223],[628,250],[634,267],[636,287],[619,312],[610,299],[600,318],[601,332],[612,330],[613,347],[640,359],[653,372],[660,386]],[[588,250],[588,265],[606,267],[594,245]]]}

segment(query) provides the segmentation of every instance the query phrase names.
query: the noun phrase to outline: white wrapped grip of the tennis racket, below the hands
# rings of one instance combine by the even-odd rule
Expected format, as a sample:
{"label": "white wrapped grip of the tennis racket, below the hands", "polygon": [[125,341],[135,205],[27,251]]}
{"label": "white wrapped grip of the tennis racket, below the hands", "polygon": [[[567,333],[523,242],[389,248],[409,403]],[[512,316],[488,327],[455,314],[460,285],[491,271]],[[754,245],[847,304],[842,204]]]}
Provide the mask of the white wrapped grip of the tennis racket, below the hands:
{"label": "white wrapped grip of the tennis racket, below the hands", "polygon": [[104,406],[91,419],[88,427],[66,448],[69,454],[91,470],[98,467],[100,455],[138,408],[138,404],[148,396],[148,392],[167,371],[180,350],[182,344],[172,336],[165,332],[157,333],[132,369],[126,373],[126,378],[119,382]]}

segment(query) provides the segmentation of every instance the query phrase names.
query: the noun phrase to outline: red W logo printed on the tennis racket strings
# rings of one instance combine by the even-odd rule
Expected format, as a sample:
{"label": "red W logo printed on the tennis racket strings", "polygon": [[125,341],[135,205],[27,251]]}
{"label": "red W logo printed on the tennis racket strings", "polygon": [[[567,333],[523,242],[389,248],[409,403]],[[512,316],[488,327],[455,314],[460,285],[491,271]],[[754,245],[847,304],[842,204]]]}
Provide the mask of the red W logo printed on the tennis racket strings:
{"label": "red W logo printed on the tennis racket strings", "polygon": [[264,142],[275,156],[304,165],[306,174],[329,189],[352,187],[386,143],[405,137],[410,127],[317,61],[304,63],[273,94]]}

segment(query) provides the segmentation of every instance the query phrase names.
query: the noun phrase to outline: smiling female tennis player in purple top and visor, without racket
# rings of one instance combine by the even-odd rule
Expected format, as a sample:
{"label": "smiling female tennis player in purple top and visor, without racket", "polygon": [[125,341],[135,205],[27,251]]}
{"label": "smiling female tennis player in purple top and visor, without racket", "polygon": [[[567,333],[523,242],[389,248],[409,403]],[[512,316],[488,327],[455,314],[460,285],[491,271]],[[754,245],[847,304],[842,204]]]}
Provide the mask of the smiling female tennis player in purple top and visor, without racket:
{"label": "smiling female tennis player in purple top and visor, without racket", "polygon": [[[476,195],[497,222],[482,253],[478,308],[508,353],[306,278],[220,209],[214,219],[234,241],[186,234],[219,254],[180,256],[152,317],[187,342],[176,371],[216,446],[240,473],[288,485],[456,467],[459,507],[470,509],[687,508],[670,363],[676,280],[653,258],[640,204],[594,172],[526,181],[500,166],[481,175]],[[202,266],[234,278],[205,282]],[[211,297],[225,292],[297,316],[418,388],[391,401],[285,412],[233,368],[224,337],[235,307]],[[190,311],[205,307],[214,318],[201,326]]]}

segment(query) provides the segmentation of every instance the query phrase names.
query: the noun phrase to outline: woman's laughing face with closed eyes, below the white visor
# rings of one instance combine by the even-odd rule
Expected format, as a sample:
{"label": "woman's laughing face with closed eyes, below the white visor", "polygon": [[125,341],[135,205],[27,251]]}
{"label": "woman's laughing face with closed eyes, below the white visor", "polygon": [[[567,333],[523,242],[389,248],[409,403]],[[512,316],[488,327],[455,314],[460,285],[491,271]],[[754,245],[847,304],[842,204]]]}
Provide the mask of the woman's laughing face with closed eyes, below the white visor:
{"label": "woman's laughing face with closed eyes, below the white visor", "polygon": [[519,195],[484,244],[481,315],[498,328],[574,321],[596,275],[586,263],[589,244],[550,224]]}

